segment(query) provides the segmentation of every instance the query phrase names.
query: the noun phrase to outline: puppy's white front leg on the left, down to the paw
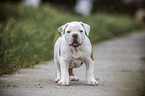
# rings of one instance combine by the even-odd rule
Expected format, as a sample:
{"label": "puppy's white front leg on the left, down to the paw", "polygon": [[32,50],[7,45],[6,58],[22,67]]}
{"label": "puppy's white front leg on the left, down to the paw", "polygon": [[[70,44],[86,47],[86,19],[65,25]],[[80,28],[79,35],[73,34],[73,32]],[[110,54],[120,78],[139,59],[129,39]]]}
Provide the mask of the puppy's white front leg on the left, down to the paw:
{"label": "puppy's white front leg on the left, down to the paw", "polygon": [[66,59],[60,58],[60,68],[61,68],[61,80],[58,82],[58,85],[65,86],[69,85],[69,73],[68,73],[69,63]]}

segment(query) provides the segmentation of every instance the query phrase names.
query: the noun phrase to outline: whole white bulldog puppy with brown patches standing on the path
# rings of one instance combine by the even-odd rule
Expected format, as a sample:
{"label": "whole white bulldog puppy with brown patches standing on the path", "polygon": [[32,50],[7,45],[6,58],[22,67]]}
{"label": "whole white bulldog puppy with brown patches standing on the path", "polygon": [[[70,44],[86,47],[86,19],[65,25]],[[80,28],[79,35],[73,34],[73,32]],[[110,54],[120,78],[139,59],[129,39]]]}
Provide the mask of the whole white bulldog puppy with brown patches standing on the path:
{"label": "whole white bulldog puppy with brown patches standing on the path", "polygon": [[82,22],[70,22],[58,28],[61,36],[54,46],[54,63],[57,67],[58,85],[69,85],[69,80],[78,81],[73,68],[86,65],[86,81],[98,85],[94,79],[94,58],[89,35],[90,26]]}

